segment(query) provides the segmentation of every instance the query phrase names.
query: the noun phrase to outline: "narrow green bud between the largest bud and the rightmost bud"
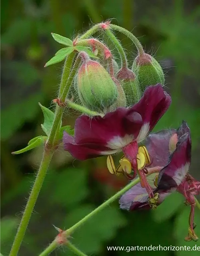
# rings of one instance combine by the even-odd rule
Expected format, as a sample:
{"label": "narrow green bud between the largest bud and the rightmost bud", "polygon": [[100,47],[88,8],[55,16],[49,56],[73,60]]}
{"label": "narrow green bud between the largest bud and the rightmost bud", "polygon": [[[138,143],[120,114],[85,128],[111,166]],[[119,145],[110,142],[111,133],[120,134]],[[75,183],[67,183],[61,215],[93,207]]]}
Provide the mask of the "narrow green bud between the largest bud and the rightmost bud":
{"label": "narrow green bud between the largest bud and the rightmost bud", "polygon": [[121,68],[116,75],[126,95],[127,106],[132,106],[141,98],[140,87],[135,74],[129,68]]}

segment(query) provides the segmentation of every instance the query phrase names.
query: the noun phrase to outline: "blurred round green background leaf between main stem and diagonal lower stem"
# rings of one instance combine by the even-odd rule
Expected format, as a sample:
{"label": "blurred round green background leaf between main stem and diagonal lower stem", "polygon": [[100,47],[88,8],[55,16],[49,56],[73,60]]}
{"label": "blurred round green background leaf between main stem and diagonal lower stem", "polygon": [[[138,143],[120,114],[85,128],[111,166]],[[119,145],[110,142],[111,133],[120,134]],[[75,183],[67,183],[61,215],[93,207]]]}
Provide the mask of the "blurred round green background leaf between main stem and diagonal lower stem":
{"label": "blurred round green background leaf between main stem and diagonal lower stem", "polygon": [[71,169],[60,173],[54,180],[54,188],[51,188],[50,202],[68,207],[78,204],[89,194],[86,180],[85,170]]}

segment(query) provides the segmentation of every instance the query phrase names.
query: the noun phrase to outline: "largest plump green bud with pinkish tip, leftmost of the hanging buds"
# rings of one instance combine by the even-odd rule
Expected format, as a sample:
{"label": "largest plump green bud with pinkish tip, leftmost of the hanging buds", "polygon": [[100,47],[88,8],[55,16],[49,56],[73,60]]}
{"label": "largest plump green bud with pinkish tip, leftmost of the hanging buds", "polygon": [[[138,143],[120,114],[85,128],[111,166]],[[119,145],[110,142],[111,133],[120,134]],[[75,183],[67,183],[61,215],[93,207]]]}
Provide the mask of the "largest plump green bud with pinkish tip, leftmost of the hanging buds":
{"label": "largest plump green bud with pinkish tip, leftmost of the hanging buds", "polygon": [[108,72],[89,58],[78,70],[78,94],[82,104],[94,111],[104,111],[118,97],[116,85]]}

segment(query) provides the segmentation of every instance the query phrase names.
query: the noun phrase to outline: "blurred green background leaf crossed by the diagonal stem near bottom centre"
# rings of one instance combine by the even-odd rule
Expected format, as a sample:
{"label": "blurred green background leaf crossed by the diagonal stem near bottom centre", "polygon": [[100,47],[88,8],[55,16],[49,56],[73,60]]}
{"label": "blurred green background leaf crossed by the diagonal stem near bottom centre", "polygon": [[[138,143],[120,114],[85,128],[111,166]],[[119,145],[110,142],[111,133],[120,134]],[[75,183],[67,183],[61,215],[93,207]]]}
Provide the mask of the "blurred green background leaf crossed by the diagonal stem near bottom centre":
{"label": "blurred green background leaf crossed by the diagonal stem near bottom centre", "polygon": [[[74,225],[94,209],[95,206],[91,204],[79,206],[66,216],[64,226]],[[82,252],[97,255],[102,250],[103,242],[115,238],[118,229],[125,225],[126,220],[118,207],[108,206],[86,221],[80,229],[75,230],[72,242]],[[74,254],[69,251],[66,255],[72,256]]]}

